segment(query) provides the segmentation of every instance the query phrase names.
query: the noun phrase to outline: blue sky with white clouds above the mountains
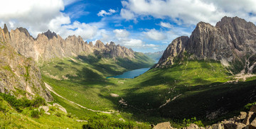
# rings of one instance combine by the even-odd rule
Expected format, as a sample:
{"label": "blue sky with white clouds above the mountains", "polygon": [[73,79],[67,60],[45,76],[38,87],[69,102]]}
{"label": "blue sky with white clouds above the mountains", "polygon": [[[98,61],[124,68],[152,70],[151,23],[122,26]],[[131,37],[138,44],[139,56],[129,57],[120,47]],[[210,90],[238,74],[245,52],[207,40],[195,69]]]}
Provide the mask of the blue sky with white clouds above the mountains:
{"label": "blue sky with white clouds above the mountains", "polygon": [[139,52],[165,50],[200,21],[238,16],[256,23],[255,0],[0,0],[0,27],[23,27],[33,38],[51,30]]}

